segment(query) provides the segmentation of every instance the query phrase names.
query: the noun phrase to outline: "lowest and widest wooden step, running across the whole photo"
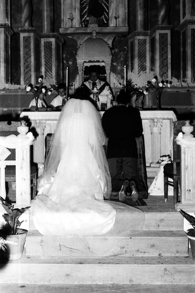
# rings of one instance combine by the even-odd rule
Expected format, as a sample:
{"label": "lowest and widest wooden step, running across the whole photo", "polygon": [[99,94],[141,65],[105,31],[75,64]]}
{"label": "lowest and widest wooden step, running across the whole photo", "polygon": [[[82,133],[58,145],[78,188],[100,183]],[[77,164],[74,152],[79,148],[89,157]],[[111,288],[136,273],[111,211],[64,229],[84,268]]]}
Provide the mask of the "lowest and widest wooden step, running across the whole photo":
{"label": "lowest and widest wooden step, running across the whole photo", "polygon": [[[194,284],[195,261],[186,257],[22,257],[1,264],[1,283]],[[129,288],[130,289],[130,288]],[[176,290],[177,291],[177,290]]]}

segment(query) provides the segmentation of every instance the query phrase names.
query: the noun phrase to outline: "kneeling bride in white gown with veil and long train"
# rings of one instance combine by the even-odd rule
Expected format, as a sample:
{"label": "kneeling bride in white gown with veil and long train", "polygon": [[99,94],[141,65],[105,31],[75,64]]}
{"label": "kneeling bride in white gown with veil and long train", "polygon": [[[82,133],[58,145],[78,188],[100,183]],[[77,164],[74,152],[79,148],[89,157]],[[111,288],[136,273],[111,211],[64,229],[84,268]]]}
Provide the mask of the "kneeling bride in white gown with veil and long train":
{"label": "kneeling bride in white gown with veil and long train", "polygon": [[[85,95],[85,97],[84,97]],[[111,178],[103,145],[107,143],[95,106],[80,90],[63,107],[51,148],[38,179],[33,220],[43,235],[89,236],[129,231],[143,225],[141,210],[104,201]],[[121,213],[126,212],[126,223]]]}

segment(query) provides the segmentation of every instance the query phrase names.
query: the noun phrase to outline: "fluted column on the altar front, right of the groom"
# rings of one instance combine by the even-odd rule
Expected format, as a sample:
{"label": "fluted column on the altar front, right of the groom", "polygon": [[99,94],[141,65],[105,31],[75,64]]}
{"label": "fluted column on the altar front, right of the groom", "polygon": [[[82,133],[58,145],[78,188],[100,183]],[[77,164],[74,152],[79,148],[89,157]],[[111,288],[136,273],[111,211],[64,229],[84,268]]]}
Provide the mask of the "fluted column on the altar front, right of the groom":
{"label": "fluted column on the altar front, right of the groom", "polygon": [[161,155],[161,128],[163,119],[149,119],[151,129],[151,164],[156,164]]}

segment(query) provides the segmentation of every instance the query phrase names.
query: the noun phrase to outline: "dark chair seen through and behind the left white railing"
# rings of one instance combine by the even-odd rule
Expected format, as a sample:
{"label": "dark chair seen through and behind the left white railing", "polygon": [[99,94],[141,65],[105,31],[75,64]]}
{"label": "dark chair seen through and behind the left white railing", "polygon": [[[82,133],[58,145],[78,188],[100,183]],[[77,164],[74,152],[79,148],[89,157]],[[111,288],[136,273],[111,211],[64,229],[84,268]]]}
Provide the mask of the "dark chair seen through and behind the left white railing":
{"label": "dark chair seen through and behind the left white railing", "polygon": [[[20,122],[12,121],[9,125],[7,121],[0,121],[0,136],[8,136],[11,134],[18,135],[17,126],[20,126]],[[6,160],[15,160],[15,149],[9,149],[11,154]],[[16,168],[15,166],[6,166],[5,168],[5,182],[6,182],[6,193],[7,197],[11,202],[15,201],[16,198]],[[31,198],[36,196],[36,181],[37,181],[37,170],[35,166],[31,166],[30,170],[30,189]]]}

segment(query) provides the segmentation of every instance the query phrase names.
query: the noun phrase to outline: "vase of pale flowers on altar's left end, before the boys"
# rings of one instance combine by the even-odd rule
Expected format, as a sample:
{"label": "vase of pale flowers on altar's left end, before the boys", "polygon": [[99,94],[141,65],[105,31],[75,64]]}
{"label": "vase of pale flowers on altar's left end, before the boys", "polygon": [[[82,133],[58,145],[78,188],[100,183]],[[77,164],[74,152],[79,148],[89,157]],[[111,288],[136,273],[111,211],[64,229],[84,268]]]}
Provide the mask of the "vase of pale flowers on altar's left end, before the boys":
{"label": "vase of pale flowers on altar's left end, before the boys", "polygon": [[32,92],[35,98],[35,102],[36,102],[36,108],[35,111],[38,111],[38,99],[39,97],[41,97],[41,99],[44,97],[44,95],[46,95],[46,93],[48,93],[48,95],[51,94],[51,92],[53,91],[53,88],[50,87],[49,89],[47,88],[47,86],[43,85],[43,75],[40,76],[40,78],[38,79],[39,84],[33,86],[32,83],[30,83],[27,88],[26,88],[26,92]]}

